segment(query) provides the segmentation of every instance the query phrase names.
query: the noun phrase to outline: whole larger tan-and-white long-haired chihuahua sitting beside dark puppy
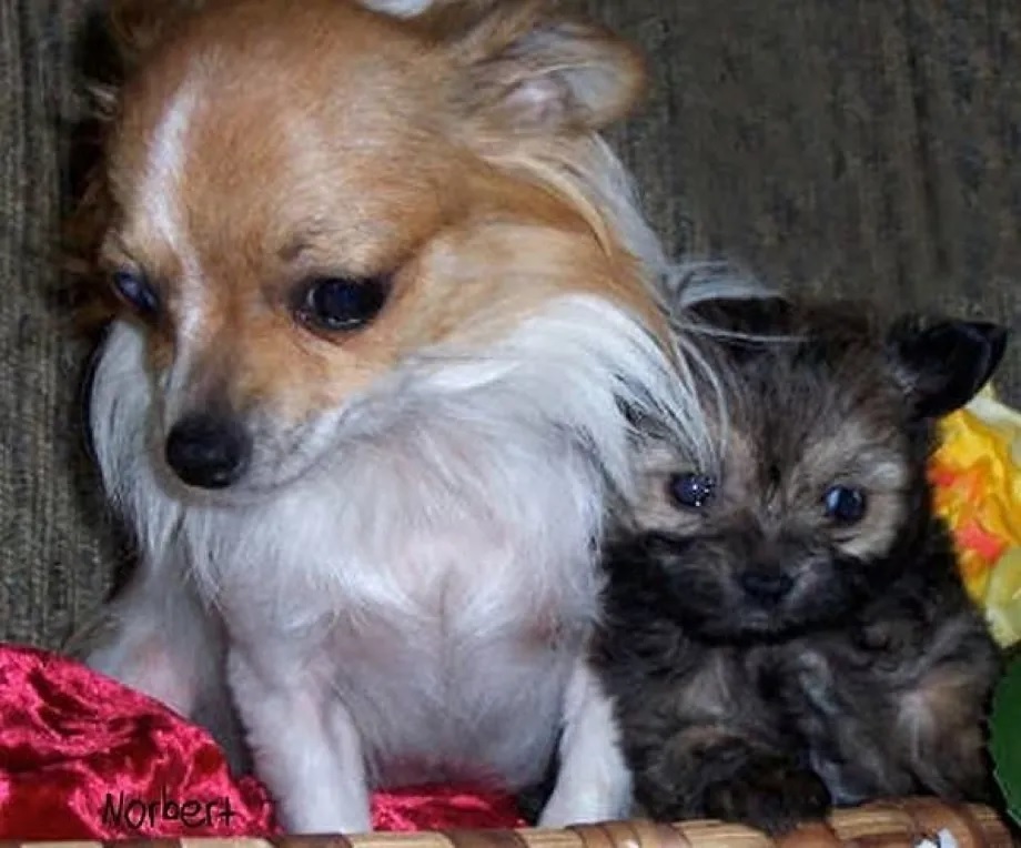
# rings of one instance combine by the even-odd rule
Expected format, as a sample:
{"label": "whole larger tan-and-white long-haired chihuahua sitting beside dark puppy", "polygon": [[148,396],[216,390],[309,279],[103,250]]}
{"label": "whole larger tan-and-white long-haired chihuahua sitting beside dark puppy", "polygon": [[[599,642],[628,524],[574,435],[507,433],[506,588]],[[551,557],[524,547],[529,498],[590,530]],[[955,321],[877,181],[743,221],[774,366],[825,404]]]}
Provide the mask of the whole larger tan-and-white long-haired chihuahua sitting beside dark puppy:
{"label": "whole larger tan-and-white long-haired chihuahua sitting beside dark puppy", "polygon": [[292,831],[557,755],[542,824],[621,815],[604,506],[628,410],[707,432],[597,134],[635,52],[532,3],[113,6],[91,432],[141,564],[89,662],[233,701]]}

